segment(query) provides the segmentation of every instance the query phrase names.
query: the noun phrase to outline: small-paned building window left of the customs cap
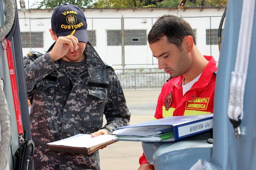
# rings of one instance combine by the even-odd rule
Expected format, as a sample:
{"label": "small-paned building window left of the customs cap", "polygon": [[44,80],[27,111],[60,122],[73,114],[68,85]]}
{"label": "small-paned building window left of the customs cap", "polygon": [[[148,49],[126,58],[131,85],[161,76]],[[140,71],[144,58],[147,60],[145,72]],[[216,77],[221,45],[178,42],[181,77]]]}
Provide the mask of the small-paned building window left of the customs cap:
{"label": "small-paned building window left of the customs cap", "polygon": [[[31,40],[31,46],[30,46]],[[22,48],[43,48],[44,39],[43,32],[21,32],[21,44]]]}

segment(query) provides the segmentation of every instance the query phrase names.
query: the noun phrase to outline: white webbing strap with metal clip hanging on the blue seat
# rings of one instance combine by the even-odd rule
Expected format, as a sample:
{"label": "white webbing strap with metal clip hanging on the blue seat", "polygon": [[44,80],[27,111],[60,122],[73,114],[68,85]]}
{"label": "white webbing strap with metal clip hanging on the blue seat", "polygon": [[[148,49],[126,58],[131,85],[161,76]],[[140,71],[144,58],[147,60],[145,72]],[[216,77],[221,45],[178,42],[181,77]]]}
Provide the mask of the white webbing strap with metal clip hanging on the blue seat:
{"label": "white webbing strap with metal clip hanging on the blue seat", "polygon": [[[228,117],[237,122],[243,117],[244,91],[250,55],[254,8],[255,0],[243,1],[235,70],[231,72]],[[240,131],[239,127],[238,130]],[[240,134],[236,135],[236,137],[239,136]]]}

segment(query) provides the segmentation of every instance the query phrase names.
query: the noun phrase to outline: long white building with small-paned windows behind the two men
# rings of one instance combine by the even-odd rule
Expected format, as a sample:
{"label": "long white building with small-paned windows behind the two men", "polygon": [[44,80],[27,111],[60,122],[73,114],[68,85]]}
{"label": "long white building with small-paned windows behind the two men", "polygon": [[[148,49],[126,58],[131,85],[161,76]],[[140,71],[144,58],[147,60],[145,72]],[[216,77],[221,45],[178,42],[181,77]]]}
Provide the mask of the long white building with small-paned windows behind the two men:
{"label": "long white building with small-paned windows behind the two men", "polygon": [[[218,61],[217,33],[224,10],[225,7],[184,8],[179,11],[177,8],[83,9],[89,41],[93,42],[101,58],[116,68],[122,68],[122,17],[125,68],[153,68],[157,67],[157,60],[152,57],[146,36],[158,17],[170,14],[186,19],[196,33],[201,53],[213,55]],[[46,51],[54,42],[49,33],[52,13],[53,10],[19,10],[23,55],[31,49]]]}

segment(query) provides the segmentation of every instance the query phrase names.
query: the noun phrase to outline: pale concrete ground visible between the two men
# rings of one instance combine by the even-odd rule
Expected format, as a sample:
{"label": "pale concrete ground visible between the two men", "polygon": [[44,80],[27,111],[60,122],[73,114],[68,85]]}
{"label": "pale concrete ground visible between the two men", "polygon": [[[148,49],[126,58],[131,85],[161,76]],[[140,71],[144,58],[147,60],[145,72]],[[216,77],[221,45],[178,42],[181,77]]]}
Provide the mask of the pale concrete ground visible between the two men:
{"label": "pale concrete ground visible between the two men", "polygon": [[[131,112],[130,125],[153,120],[161,89],[124,90]],[[100,149],[101,170],[137,170],[141,142],[118,141]]]}

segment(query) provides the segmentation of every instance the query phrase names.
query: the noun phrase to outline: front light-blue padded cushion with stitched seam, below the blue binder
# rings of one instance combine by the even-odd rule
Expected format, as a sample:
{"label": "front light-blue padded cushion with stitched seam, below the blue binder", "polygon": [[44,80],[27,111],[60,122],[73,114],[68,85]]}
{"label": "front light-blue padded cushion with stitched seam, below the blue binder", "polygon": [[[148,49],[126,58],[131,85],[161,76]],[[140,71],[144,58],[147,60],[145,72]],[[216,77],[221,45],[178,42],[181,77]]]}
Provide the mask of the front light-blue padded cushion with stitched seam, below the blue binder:
{"label": "front light-blue padded cushion with stitched seam, below the blue binder", "polygon": [[210,162],[212,147],[206,140],[163,143],[153,154],[155,169],[190,169],[198,159]]}

